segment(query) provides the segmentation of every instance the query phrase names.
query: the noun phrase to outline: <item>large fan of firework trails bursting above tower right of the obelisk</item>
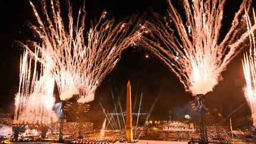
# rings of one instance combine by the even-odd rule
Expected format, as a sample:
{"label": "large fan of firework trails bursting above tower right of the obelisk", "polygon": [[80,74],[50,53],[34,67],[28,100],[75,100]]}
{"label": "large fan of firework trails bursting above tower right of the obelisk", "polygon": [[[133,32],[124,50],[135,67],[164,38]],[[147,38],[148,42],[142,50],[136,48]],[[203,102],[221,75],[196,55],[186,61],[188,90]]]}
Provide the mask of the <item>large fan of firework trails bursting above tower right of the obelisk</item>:
{"label": "large fan of firework trails bursting above tower right of the obelisk", "polygon": [[[142,45],[152,50],[193,95],[213,91],[222,79],[221,72],[235,57],[246,40],[244,0],[235,13],[231,27],[219,38],[225,0],[181,1],[185,18],[168,0],[167,17],[152,12],[146,18]],[[248,11],[248,9],[246,9]],[[145,14],[148,17],[148,14]],[[172,28],[174,26],[174,28]]]}

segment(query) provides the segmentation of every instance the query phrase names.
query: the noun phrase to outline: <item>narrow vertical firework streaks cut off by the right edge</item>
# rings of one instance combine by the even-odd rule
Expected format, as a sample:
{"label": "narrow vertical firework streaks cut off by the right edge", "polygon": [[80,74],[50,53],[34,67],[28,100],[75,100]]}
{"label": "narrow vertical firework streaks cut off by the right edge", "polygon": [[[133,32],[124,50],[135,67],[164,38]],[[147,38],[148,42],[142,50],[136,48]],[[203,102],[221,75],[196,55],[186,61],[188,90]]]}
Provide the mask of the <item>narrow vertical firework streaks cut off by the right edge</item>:
{"label": "narrow vertical firework streaks cut off by the right edge", "polygon": [[[247,13],[246,13],[247,14]],[[256,22],[255,12],[253,11],[254,24]],[[255,36],[254,27],[249,20],[249,15],[247,14],[247,29],[249,33],[250,49],[249,54],[244,54],[244,59],[242,59],[242,65],[244,69],[245,76],[245,86],[243,88],[245,98],[247,103],[251,108],[252,120],[254,127],[256,127],[256,46],[255,46]]]}

